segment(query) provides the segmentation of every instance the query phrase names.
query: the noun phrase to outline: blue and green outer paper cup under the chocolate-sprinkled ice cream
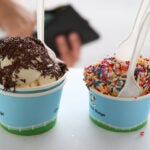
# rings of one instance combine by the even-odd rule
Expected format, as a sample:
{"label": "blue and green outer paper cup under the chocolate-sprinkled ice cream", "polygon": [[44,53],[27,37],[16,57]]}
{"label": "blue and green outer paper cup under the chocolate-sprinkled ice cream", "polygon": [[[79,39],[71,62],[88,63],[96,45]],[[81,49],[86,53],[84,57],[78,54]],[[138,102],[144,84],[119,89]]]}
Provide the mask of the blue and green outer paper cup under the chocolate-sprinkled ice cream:
{"label": "blue and green outer paper cup under the chocolate-sprinkled ice cream", "polygon": [[57,119],[65,82],[48,91],[19,94],[0,91],[0,124],[18,135],[36,135],[51,129]]}

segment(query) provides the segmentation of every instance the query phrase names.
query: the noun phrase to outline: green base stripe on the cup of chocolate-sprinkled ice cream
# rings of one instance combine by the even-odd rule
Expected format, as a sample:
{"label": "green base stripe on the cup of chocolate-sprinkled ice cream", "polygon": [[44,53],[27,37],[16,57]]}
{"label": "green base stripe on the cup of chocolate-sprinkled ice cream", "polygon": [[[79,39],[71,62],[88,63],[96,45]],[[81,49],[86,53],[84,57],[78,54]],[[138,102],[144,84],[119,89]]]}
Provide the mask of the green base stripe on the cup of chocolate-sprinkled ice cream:
{"label": "green base stripe on the cup of chocolate-sprinkled ice cream", "polygon": [[21,131],[19,131],[17,129],[10,129],[10,128],[4,126],[3,124],[0,124],[0,126],[10,133],[17,134],[17,135],[30,136],[30,135],[37,135],[37,134],[44,133],[44,132],[50,130],[51,128],[53,128],[55,126],[55,124],[56,124],[56,119],[54,119],[53,121],[51,121],[50,123],[48,123],[47,125],[44,125],[42,127],[37,127],[35,129],[26,129],[26,130],[21,130]]}

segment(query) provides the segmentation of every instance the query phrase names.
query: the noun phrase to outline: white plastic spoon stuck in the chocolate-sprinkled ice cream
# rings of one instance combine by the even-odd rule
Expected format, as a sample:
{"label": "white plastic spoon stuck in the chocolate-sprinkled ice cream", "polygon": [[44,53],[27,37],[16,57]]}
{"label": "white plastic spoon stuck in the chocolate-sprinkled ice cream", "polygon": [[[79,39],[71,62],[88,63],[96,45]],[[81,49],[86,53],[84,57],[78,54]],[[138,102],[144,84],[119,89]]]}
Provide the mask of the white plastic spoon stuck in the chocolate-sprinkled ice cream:
{"label": "white plastic spoon stuck in the chocolate-sprinkled ice cream", "polygon": [[44,42],[44,0],[37,0],[37,35],[46,47],[50,57],[56,61],[55,53]]}

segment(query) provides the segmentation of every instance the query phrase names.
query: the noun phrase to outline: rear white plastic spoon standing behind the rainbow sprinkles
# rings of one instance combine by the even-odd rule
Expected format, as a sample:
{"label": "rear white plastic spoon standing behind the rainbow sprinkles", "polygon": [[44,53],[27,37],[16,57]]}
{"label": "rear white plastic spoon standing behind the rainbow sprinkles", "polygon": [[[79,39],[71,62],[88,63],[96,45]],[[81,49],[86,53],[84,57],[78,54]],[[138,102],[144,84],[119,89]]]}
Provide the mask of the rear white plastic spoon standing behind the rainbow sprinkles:
{"label": "rear white plastic spoon standing behind the rainbow sprinkles", "polygon": [[143,0],[137,17],[135,19],[135,23],[132,29],[132,32],[129,34],[126,40],[124,40],[118,47],[116,58],[117,60],[126,61],[131,60],[132,52],[135,46],[135,41],[137,39],[140,23],[142,22],[143,17],[149,10],[150,7],[150,0]]}

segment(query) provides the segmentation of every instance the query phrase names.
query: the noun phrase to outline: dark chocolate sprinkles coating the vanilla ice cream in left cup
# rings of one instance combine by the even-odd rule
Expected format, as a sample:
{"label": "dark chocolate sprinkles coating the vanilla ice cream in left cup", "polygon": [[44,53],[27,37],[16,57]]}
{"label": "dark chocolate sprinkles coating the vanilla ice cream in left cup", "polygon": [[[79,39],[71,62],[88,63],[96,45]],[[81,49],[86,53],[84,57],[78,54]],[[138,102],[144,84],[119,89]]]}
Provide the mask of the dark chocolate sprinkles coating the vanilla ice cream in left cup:
{"label": "dark chocolate sprinkles coating the vanilla ice cream in left cup", "polygon": [[[12,64],[2,68],[1,62],[7,58]],[[33,37],[11,37],[0,41],[0,84],[4,90],[10,90],[17,85],[20,69],[34,69],[41,76],[50,76],[59,79],[67,71],[64,63],[55,63],[49,56],[41,41]]]}

